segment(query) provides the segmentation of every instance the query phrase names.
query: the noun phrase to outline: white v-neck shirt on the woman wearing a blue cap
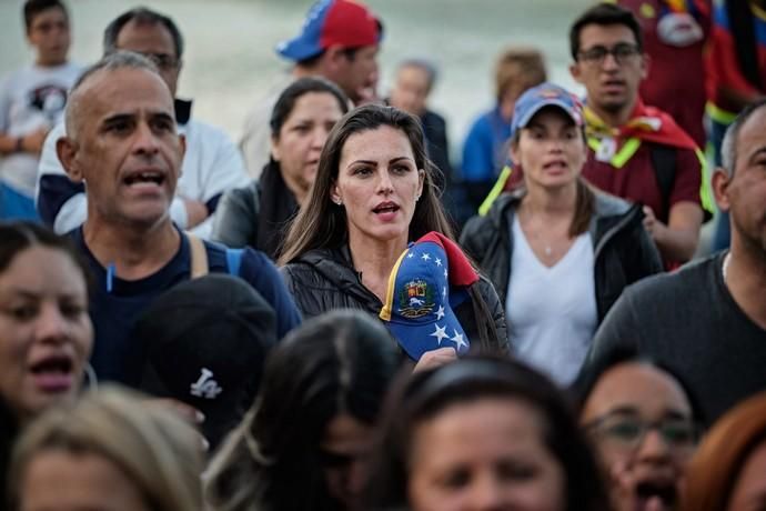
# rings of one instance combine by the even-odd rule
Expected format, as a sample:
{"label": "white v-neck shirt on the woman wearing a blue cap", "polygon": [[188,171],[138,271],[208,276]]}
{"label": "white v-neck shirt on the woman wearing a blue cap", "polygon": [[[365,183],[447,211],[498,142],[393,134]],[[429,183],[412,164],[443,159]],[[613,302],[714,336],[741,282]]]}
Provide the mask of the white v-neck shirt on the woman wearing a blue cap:
{"label": "white v-neck shirt on the woman wearing a blue cap", "polygon": [[598,322],[591,236],[578,236],[548,268],[532,251],[518,217],[511,231],[508,341],[521,360],[566,385],[579,372]]}

